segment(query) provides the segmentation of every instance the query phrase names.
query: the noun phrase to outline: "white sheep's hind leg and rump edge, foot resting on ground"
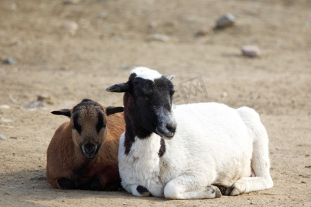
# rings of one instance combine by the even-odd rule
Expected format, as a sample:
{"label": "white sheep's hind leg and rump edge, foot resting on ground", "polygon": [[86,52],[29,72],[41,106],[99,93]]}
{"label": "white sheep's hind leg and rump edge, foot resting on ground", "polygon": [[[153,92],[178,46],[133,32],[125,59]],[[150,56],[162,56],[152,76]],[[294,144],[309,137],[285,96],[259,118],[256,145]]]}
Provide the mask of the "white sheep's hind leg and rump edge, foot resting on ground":
{"label": "white sheep's hind leg and rump edge, foot resting on ground", "polygon": [[270,176],[269,139],[267,131],[261,124],[260,117],[252,108],[237,109],[253,138],[252,170],[256,177],[242,177],[234,183],[230,195],[238,195],[257,190],[272,188],[273,181]]}

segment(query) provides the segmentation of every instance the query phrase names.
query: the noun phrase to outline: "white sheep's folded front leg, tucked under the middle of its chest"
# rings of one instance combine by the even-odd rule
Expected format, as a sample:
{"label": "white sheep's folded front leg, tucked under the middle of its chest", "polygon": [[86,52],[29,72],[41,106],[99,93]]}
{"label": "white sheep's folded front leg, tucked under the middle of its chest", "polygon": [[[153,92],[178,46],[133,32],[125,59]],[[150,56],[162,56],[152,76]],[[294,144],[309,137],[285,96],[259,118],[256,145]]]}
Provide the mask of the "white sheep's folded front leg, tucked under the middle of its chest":
{"label": "white sheep's folded front leg, tucked under the middle of its chest", "polygon": [[164,196],[167,199],[211,199],[221,197],[221,193],[218,187],[208,185],[202,175],[187,174],[169,181]]}

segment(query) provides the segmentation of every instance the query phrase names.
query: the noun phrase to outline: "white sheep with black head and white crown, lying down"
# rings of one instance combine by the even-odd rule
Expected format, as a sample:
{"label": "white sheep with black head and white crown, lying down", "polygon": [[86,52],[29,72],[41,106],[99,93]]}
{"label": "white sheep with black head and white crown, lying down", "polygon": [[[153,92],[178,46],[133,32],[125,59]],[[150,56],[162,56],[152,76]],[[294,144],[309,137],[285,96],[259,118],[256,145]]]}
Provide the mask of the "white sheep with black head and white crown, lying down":
{"label": "white sheep with black head and white crown, lying down", "polygon": [[[272,188],[268,136],[258,113],[221,103],[173,110],[171,78],[139,67],[129,81],[106,89],[125,92],[126,130],[118,154],[122,186],[136,196],[167,199]],[[250,177],[252,170],[255,177]]]}

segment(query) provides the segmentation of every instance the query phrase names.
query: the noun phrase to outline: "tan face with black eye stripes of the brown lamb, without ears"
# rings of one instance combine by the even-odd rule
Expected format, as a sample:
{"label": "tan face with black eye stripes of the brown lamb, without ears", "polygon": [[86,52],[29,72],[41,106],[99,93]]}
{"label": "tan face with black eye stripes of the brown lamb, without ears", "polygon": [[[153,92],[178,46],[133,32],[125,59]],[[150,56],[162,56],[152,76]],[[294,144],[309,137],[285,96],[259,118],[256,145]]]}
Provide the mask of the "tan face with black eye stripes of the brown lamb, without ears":
{"label": "tan face with black eye stripes of the brown lamb, without ears", "polygon": [[100,150],[106,139],[106,124],[107,119],[102,106],[88,103],[73,109],[70,120],[73,142],[86,159],[93,159]]}

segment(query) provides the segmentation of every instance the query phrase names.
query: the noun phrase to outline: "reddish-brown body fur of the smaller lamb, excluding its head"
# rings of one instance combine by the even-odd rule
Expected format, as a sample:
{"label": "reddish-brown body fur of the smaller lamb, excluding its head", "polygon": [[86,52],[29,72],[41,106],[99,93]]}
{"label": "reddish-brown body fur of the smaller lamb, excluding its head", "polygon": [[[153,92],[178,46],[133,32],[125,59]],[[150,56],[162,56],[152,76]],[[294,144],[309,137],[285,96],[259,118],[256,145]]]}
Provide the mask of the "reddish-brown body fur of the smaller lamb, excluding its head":
{"label": "reddish-brown body fur of the smaller lamb, excluding its head", "polygon": [[100,178],[100,188],[96,190],[120,188],[117,151],[120,135],[124,132],[123,112],[107,117],[106,130],[106,139],[96,157],[86,159],[79,146],[73,141],[73,133],[77,132],[70,126],[70,121],[59,126],[47,150],[46,179],[48,183],[53,188],[62,188],[57,180],[66,178],[79,186],[76,188],[88,189],[88,182],[97,175]]}

